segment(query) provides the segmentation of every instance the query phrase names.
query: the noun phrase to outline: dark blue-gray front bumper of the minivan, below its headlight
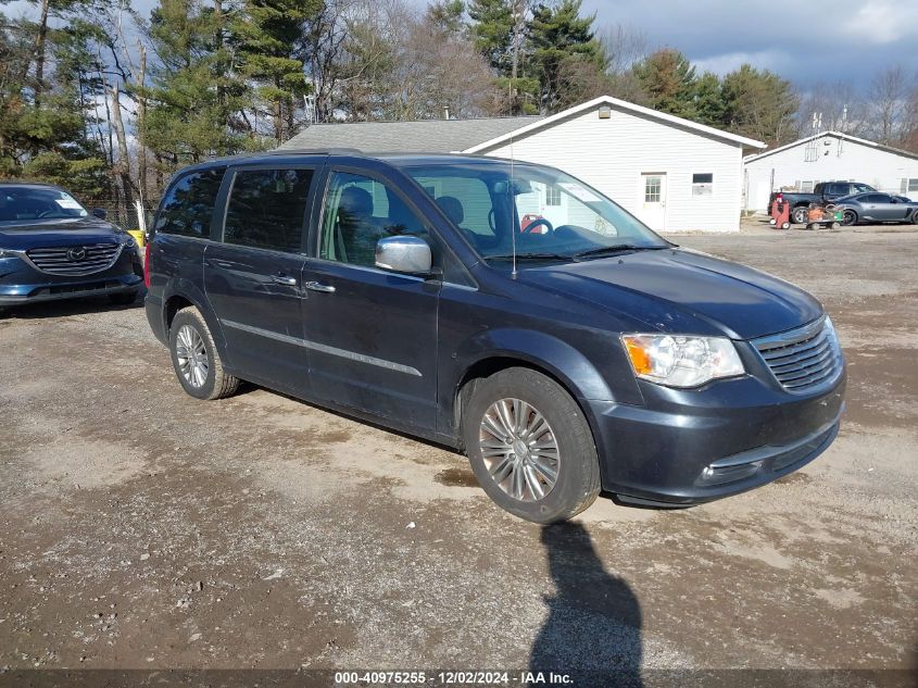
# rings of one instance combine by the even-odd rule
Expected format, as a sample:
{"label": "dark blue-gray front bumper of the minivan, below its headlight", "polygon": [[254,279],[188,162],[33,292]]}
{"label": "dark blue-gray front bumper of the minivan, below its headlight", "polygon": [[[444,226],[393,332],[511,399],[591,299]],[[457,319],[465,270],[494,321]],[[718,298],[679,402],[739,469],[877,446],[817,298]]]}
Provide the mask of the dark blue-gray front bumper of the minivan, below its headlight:
{"label": "dark blue-gray front bumper of the minivan, below its headlight", "polygon": [[746,376],[703,390],[641,383],[643,406],[587,402],[603,491],[687,506],[751,490],[806,465],[839,433],[845,373],[812,395]]}

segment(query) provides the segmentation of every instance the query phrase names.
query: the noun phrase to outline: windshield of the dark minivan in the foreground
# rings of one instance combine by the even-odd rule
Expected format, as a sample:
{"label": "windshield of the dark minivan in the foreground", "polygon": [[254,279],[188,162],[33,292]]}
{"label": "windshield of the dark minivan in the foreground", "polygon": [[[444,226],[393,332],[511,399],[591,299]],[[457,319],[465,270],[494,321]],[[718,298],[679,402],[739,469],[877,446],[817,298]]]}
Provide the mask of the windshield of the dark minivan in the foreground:
{"label": "windshield of the dark minivan in the foreground", "polygon": [[574,259],[670,245],[616,203],[558,170],[452,163],[406,172],[486,259]]}

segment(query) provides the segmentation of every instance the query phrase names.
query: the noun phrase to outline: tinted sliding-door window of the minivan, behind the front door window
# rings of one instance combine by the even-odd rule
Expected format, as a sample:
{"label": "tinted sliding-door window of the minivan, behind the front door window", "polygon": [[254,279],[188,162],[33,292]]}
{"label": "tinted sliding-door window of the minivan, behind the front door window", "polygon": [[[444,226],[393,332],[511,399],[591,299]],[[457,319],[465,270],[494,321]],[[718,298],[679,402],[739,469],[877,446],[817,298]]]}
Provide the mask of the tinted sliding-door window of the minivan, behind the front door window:
{"label": "tinted sliding-door window of the minivan, behind the front door window", "polygon": [[312,178],[312,170],[237,172],[223,240],[256,249],[300,251]]}

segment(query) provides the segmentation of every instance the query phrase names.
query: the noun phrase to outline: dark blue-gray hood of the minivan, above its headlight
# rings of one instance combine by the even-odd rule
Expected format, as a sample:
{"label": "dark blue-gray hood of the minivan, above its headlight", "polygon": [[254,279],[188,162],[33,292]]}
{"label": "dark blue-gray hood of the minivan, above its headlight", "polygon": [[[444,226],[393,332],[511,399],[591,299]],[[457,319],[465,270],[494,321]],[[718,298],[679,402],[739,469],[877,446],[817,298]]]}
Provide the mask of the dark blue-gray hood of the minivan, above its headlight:
{"label": "dark blue-gray hood of the minivan, above its headlight", "polygon": [[669,333],[755,339],[793,329],[823,312],[816,299],[787,282],[684,249],[524,270],[519,279]]}

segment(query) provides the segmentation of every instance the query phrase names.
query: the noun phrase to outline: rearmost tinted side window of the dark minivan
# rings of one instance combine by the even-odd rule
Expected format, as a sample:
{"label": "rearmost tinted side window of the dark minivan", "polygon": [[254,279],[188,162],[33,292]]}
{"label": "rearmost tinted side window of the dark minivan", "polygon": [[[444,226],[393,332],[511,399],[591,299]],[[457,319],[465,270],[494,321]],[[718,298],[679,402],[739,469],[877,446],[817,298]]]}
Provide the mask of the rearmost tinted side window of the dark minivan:
{"label": "rearmost tinted side window of the dark minivan", "polygon": [[156,234],[209,238],[224,172],[226,167],[193,172],[173,184],[160,203],[153,230]]}

